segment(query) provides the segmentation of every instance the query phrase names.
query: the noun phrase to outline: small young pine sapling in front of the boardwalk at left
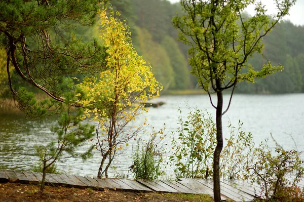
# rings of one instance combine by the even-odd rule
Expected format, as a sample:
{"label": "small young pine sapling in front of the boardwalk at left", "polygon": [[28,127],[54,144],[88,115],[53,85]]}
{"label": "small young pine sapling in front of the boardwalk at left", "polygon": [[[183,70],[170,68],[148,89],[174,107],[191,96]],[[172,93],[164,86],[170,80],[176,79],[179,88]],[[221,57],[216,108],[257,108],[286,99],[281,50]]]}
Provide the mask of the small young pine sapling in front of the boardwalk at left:
{"label": "small young pine sapling in front of the boardwalk at left", "polygon": [[51,128],[51,131],[57,135],[57,140],[50,142],[48,145],[35,146],[39,156],[38,164],[39,167],[42,167],[43,172],[41,191],[44,189],[46,172],[56,170],[54,165],[57,160],[64,160],[73,156],[81,156],[85,160],[92,156],[94,148],[94,145],[92,145],[83,153],[76,151],[78,147],[84,146],[85,142],[93,137],[95,127],[89,124],[82,124],[83,109],[74,110],[71,106],[71,103],[77,100],[75,94],[79,92],[78,88],[73,88],[72,79],[65,79],[63,85],[67,88],[65,93],[66,100],[58,118],[58,125]]}

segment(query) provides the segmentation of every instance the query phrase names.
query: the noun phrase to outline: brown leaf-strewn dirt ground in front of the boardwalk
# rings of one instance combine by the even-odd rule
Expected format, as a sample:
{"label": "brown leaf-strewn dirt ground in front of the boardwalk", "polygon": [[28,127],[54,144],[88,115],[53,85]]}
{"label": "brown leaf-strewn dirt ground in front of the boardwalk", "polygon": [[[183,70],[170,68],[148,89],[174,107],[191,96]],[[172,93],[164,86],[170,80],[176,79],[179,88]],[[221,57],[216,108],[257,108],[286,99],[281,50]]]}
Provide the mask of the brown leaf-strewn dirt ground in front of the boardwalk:
{"label": "brown leaf-strewn dirt ground in front of the boardwalk", "polygon": [[96,191],[93,189],[75,189],[46,186],[40,193],[37,185],[20,183],[0,183],[1,202],[97,202],[97,201],[188,201],[212,202],[208,195],[172,194],[172,193],[134,193],[120,191]]}

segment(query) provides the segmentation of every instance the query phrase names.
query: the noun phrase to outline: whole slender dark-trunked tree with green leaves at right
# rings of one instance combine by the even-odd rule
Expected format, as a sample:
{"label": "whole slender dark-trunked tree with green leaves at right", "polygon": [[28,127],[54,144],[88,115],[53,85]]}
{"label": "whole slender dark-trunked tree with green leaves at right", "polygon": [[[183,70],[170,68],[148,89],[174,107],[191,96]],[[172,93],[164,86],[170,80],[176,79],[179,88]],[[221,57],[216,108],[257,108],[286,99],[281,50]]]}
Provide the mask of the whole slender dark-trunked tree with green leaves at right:
{"label": "whole slender dark-trunked tree with green leaves at right", "polygon": [[[223,148],[222,115],[229,109],[233,93],[238,83],[246,80],[254,83],[282,66],[272,66],[268,61],[261,70],[255,71],[247,63],[253,53],[262,53],[262,38],[286,15],[295,0],[274,0],[277,13],[272,17],[258,1],[252,0],[181,0],[183,16],[174,17],[174,26],[180,30],[179,39],[191,45],[189,64],[192,73],[208,93],[212,106],[216,109],[217,145],[213,157],[214,200],[220,198],[220,153]],[[255,5],[255,14],[242,14],[250,4]],[[227,108],[223,110],[223,91],[231,90]],[[212,100],[215,93],[217,103]]]}

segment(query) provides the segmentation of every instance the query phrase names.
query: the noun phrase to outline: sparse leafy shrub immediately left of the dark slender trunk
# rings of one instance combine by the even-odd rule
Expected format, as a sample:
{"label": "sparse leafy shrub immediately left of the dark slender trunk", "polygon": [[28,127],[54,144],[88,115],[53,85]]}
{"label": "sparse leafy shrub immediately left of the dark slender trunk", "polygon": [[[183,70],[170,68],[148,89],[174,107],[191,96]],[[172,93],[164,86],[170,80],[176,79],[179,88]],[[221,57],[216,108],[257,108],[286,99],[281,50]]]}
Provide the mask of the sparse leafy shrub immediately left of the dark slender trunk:
{"label": "sparse leafy shrub immediately left of the dark slender trunk", "polygon": [[172,140],[175,152],[170,156],[176,178],[208,178],[212,176],[215,123],[208,112],[205,114],[200,109],[190,111],[187,120],[178,111],[178,139]]}

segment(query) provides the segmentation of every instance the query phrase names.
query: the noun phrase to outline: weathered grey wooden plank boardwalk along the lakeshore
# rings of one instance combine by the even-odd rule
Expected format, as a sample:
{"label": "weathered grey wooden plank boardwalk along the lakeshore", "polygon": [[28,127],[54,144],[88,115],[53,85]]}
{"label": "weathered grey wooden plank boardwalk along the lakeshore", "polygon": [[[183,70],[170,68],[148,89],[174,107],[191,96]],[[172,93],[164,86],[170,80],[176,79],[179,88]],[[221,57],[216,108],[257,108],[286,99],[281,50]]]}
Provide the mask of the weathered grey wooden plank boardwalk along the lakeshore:
{"label": "weathered grey wooden plank boardwalk along the lakeshore", "polygon": [[[42,180],[42,173],[30,171],[0,170],[0,183],[20,182],[38,184]],[[47,174],[46,184],[52,186],[66,186],[74,188],[93,188],[95,190],[116,190],[132,192],[167,192],[209,194],[213,196],[213,180],[185,179],[178,181],[167,180],[128,180],[128,179],[98,179],[67,174]],[[300,181],[298,186],[304,186]],[[252,201],[255,195],[261,195],[258,186],[245,181],[230,181],[221,179],[222,199],[235,201]]]}

